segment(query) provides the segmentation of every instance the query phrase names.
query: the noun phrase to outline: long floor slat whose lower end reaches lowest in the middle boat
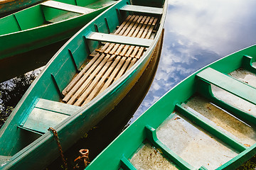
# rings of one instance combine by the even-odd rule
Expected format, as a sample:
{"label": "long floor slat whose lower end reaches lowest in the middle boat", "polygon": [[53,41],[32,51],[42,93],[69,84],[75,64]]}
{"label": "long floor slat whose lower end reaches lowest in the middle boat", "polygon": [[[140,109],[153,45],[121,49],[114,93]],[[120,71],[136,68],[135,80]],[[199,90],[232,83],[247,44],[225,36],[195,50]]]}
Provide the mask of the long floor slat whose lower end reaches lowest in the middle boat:
{"label": "long floor slat whose lower end reaches lowest in the middle boat", "polygon": [[[113,55],[114,56],[114,55]],[[107,78],[110,76],[114,68],[117,66],[118,62],[121,60],[121,57],[118,56],[117,58],[114,59],[114,62],[112,62],[111,66],[109,69],[107,69],[107,72],[105,72],[104,75],[102,75],[102,78],[98,82],[97,86],[92,90],[89,96],[85,99],[84,103],[82,103],[82,106],[85,106],[86,103],[92,100],[92,98],[95,98],[97,96],[98,92],[100,91],[102,84],[107,80]]]}

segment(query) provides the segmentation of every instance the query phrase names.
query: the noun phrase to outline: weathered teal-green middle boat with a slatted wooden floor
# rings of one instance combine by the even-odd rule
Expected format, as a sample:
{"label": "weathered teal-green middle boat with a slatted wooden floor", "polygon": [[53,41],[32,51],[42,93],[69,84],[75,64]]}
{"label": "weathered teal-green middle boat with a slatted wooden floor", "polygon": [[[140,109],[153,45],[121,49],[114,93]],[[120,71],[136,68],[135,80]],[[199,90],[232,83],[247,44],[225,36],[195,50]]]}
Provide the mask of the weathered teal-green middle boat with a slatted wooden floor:
{"label": "weathered teal-green middle boat with a slatted wooden floor", "polygon": [[76,33],[1,128],[0,167],[43,169],[59,155],[48,128],[65,151],[112,111],[158,54],[166,6],[118,1]]}

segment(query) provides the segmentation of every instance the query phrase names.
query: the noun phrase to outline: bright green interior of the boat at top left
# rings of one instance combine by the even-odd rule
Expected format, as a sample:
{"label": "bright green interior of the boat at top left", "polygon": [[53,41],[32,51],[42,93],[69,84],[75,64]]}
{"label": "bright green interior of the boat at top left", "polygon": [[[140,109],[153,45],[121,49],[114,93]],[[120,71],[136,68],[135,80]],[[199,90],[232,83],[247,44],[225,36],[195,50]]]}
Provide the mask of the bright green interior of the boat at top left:
{"label": "bright green interior of the boat at top left", "polygon": [[[87,13],[92,13],[98,8],[110,6],[116,0],[56,0],[45,1],[41,4],[26,8],[0,19],[0,35],[28,30],[50,23],[65,21]],[[29,17],[28,17],[29,16]],[[26,18],[26,19],[24,19]],[[8,28],[8,29],[6,29]]]}

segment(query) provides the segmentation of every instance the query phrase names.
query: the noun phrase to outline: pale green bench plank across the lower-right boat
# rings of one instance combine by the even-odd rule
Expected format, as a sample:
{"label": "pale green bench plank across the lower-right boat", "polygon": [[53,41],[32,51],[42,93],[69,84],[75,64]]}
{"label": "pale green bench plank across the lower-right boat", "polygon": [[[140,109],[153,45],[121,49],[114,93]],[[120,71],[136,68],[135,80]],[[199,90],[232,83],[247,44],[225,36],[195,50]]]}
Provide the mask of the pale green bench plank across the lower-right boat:
{"label": "pale green bench plank across the lower-right boat", "polygon": [[218,86],[231,94],[239,96],[240,98],[245,99],[245,101],[256,104],[256,89],[251,86],[247,86],[247,84],[244,84],[241,81],[228,77],[227,75],[222,74],[210,67],[204,69],[202,72],[199,72],[197,77],[208,82],[209,84],[214,84],[215,86]]}

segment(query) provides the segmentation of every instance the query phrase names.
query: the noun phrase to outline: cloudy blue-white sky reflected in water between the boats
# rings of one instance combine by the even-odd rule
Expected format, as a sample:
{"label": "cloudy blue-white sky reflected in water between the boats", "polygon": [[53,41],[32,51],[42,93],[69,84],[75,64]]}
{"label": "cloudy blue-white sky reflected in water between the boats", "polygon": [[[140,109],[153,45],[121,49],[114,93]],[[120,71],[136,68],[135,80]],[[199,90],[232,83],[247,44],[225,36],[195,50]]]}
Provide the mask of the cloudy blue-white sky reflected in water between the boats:
{"label": "cloudy blue-white sky reflected in water between the boats", "polygon": [[169,0],[156,77],[133,122],[196,70],[256,42],[256,1]]}

